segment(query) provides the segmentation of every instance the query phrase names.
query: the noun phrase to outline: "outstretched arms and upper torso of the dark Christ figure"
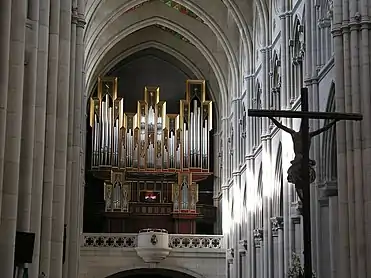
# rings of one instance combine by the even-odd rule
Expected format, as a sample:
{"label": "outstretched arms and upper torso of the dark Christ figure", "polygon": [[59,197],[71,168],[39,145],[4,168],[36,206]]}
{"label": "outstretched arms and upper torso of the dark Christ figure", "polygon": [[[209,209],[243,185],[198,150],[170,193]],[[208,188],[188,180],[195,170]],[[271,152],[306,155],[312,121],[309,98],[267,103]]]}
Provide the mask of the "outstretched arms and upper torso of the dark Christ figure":
{"label": "outstretched arms and upper torso of the dark Christ figure", "polygon": [[[282,129],[283,131],[286,131],[287,133],[289,133],[291,135],[292,142],[294,144],[294,153],[295,153],[295,158],[291,163],[295,164],[297,162],[300,162],[301,159],[303,158],[303,146],[302,146],[303,142],[302,142],[302,138],[301,138],[302,125],[300,125],[300,130],[299,131],[295,131],[291,128],[288,128],[287,126],[284,126],[283,124],[281,124],[279,121],[277,121],[273,117],[269,117],[269,119],[271,119],[271,121],[278,128]],[[320,128],[320,129],[317,129],[315,131],[309,132],[309,138],[308,138],[309,146],[308,146],[308,148],[310,149],[310,145],[312,143],[312,137],[317,136],[317,135],[321,134],[322,132],[325,132],[325,131],[329,130],[337,121],[338,121],[337,119],[332,120],[330,123],[328,123],[324,127]],[[314,161],[312,161],[312,162],[314,162]]]}

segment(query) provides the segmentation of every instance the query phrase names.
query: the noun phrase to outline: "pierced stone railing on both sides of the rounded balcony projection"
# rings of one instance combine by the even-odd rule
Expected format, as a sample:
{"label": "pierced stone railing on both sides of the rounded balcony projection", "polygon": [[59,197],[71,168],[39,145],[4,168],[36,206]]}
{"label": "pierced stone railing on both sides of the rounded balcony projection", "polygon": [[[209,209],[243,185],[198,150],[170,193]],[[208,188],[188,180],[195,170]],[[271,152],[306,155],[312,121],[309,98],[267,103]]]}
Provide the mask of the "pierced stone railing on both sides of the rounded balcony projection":
{"label": "pierced stone railing on both sides of the rounded balcony projection", "polygon": [[[169,247],[173,249],[221,249],[221,235],[170,234]],[[84,233],[81,247],[135,248],[138,234],[90,234]]]}

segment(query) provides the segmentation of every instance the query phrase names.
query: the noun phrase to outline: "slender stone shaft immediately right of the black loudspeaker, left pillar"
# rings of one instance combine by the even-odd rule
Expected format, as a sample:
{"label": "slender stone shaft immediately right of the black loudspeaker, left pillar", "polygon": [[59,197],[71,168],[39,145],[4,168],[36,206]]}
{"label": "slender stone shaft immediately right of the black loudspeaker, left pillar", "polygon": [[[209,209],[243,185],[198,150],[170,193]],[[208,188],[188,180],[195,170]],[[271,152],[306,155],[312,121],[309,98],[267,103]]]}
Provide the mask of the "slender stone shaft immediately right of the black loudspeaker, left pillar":
{"label": "slender stone shaft immediately right of the black loudspeaker, left pillar", "polygon": [[39,36],[37,53],[37,83],[35,99],[34,161],[32,169],[31,231],[35,233],[33,263],[29,268],[30,278],[39,276],[41,242],[41,213],[43,199],[43,174],[45,153],[46,92],[49,53],[50,0],[40,0]]}

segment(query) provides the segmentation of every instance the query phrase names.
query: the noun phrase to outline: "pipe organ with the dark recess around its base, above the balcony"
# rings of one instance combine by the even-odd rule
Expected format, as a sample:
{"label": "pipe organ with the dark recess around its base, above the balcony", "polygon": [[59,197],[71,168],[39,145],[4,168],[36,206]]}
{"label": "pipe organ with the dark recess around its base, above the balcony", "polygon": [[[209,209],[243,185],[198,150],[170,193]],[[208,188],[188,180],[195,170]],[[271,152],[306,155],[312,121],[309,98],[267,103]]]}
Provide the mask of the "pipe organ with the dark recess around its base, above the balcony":
{"label": "pipe organ with the dark recess around its base, above the balcony", "polygon": [[99,78],[90,99],[84,213],[89,231],[212,234],[213,107],[205,81],[186,81],[176,114],[167,113],[159,87],[145,87],[144,95],[132,92],[137,105],[125,106],[118,82]]}

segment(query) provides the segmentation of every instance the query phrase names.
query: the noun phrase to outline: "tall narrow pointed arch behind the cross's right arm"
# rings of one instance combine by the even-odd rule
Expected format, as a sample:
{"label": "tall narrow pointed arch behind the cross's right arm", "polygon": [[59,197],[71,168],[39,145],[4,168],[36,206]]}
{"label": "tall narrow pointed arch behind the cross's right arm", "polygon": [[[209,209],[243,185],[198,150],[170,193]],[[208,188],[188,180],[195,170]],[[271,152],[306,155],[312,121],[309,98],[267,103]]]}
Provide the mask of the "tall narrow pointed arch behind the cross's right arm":
{"label": "tall narrow pointed arch behind the cross's right arm", "polygon": [[[326,112],[335,112],[335,84],[331,84],[329,97],[327,100]],[[328,124],[329,120],[324,121],[324,125]],[[327,132],[323,133],[322,141],[323,167],[322,180],[323,182],[336,182],[337,180],[337,148],[336,148],[336,126],[331,127]]]}

